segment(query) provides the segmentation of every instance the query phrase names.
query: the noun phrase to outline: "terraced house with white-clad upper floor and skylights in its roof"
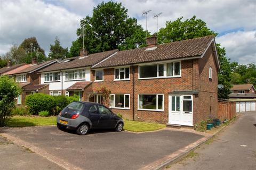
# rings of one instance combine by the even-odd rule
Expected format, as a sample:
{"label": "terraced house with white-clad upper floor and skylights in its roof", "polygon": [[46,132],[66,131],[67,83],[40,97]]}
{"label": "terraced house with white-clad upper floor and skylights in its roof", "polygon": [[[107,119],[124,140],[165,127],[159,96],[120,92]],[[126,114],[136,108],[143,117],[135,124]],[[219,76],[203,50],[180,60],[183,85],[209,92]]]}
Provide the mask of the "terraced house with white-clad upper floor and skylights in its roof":
{"label": "terraced house with white-clad upper floor and skylights in its roof", "polygon": [[117,50],[81,55],[66,58],[38,71],[41,74],[41,84],[49,84],[47,94],[52,96],[79,96],[86,100],[87,94],[92,92],[91,66],[107,57],[114,55]]}

